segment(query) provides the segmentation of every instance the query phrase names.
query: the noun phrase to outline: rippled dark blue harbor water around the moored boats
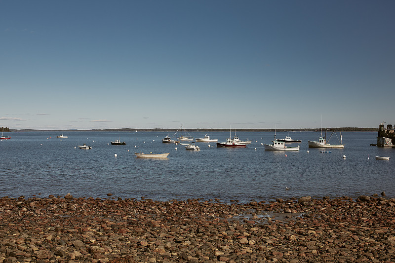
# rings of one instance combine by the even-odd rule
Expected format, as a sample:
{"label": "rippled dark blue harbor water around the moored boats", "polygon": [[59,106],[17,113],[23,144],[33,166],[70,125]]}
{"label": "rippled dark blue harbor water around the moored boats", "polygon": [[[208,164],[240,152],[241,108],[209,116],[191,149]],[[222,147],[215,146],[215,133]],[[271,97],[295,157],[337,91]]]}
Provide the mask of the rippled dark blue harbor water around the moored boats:
{"label": "rippled dark blue harbor water around the moored boats", "polygon": [[[201,138],[204,134],[191,135]],[[112,193],[112,197],[162,201],[220,198],[248,202],[305,195],[355,198],[385,191],[388,198],[395,197],[395,149],[370,146],[376,143],[377,132],[344,132],[345,148],[329,149],[330,153],[308,148],[307,141],[317,140],[319,132],[289,133],[302,140],[299,152],[265,151],[261,143],[270,143],[272,132],[238,132],[240,139],[253,141],[247,148],[197,143],[200,151],[161,143],[165,132],[70,132],[65,133],[67,139],[56,138],[56,132],[7,135],[10,140],[0,141],[0,196],[47,197],[70,192],[74,197],[107,198]],[[229,137],[227,132],[209,135],[221,142]],[[276,137],[287,135],[277,132]],[[112,146],[110,141],[119,138],[127,145]],[[77,146],[83,143],[92,149],[80,150]],[[331,143],[338,143],[336,137]],[[170,154],[166,159],[142,159],[135,157],[135,151]],[[376,160],[376,155],[390,160]]]}

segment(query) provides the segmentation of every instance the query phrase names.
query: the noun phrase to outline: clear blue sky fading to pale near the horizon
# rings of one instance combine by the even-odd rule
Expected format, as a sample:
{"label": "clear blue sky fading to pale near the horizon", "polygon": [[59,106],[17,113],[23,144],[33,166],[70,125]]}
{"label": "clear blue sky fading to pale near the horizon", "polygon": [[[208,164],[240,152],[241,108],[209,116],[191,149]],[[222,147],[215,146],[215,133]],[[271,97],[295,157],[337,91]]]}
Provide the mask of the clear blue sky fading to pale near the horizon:
{"label": "clear blue sky fading to pale near the horizon", "polygon": [[0,126],[395,124],[395,1],[3,0]]}

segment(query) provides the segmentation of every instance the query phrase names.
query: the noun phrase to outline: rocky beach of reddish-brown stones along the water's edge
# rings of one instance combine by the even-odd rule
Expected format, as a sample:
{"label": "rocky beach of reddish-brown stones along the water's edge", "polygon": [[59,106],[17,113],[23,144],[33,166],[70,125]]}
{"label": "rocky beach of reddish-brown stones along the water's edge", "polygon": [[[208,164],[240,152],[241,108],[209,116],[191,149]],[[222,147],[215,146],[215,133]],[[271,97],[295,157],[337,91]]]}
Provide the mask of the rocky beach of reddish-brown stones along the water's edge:
{"label": "rocky beach of reddish-brown stones along the water's edge", "polygon": [[0,199],[0,263],[395,262],[395,199]]}

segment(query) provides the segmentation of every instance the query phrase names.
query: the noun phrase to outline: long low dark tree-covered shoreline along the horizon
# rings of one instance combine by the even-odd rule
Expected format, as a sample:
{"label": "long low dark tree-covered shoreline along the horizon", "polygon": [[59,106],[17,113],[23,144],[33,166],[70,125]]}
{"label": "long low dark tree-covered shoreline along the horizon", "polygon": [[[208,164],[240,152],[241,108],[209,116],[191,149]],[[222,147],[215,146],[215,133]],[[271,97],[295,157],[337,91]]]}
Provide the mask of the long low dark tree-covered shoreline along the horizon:
{"label": "long low dark tree-covered shoreline along the horizon", "polygon": [[[4,127],[4,132],[6,131]],[[340,128],[322,128],[322,131],[325,129],[334,129],[336,131],[355,131],[355,132],[377,132],[379,129],[378,128],[358,128],[358,127],[340,127]],[[69,129],[69,130],[48,130],[48,129],[42,129],[42,130],[34,130],[34,129],[12,129],[12,132],[30,132],[30,131],[58,131],[58,132],[76,132],[76,131],[99,131],[99,132],[175,132],[178,129],[174,128],[150,128],[150,129],[138,129],[138,128],[114,128],[114,129],[90,129],[90,130],[79,130],[79,129]],[[232,129],[234,130],[234,129]],[[275,129],[236,129],[237,132],[272,132]],[[277,132],[306,132],[306,131],[312,131],[316,132],[319,131],[320,128],[303,128],[303,129],[276,129]],[[8,131],[10,131],[8,129]],[[205,128],[199,128],[199,129],[187,129],[187,131],[192,132],[192,131],[200,131],[200,132],[228,132],[229,129],[205,129]]]}

